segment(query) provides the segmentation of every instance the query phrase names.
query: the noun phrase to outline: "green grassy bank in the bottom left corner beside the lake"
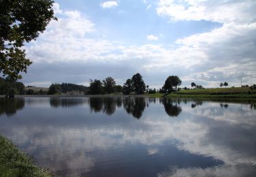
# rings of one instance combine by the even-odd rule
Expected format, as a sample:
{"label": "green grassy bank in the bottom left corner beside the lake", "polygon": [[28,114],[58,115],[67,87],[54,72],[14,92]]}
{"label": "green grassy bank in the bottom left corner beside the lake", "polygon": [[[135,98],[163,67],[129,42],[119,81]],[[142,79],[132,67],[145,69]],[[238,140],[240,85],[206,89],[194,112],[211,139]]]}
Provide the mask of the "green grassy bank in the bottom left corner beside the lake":
{"label": "green grassy bank in the bottom left corner beside the lake", "polygon": [[0,176],[53,176],[35,165],[33,159],[0,135]]}

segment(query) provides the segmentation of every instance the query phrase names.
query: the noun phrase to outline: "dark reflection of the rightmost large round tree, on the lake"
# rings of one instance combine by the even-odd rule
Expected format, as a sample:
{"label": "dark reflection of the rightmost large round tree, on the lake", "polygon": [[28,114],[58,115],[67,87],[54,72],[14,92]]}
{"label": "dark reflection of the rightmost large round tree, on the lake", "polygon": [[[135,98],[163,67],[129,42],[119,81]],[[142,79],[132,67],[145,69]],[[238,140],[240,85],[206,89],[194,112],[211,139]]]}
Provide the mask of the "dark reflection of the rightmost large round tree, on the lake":
{"label": "dark reflection of the rightmost large round tree, on the lake", "polygon": [[182,112],[182,108],[179,106],[180,100],[173,99],[162,99],[162,103],[165,106],[165,112],[172,117],[177,117],[180,112]]}

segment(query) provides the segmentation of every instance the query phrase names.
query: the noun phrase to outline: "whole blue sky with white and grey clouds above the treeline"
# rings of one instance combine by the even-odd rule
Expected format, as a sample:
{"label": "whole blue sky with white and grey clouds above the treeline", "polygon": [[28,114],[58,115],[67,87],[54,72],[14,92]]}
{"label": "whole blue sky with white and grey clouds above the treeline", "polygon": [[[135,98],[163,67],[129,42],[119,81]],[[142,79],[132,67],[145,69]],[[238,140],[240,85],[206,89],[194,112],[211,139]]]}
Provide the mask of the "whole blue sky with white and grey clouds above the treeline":
{"label": "whole blue sky with white and grey clouds above the treeline", "polygon": [[205,88],[256,83],[255,0],[55,0],[58,20],[25,45],[26,86],[140,73],[150,88],[179,76]]}

